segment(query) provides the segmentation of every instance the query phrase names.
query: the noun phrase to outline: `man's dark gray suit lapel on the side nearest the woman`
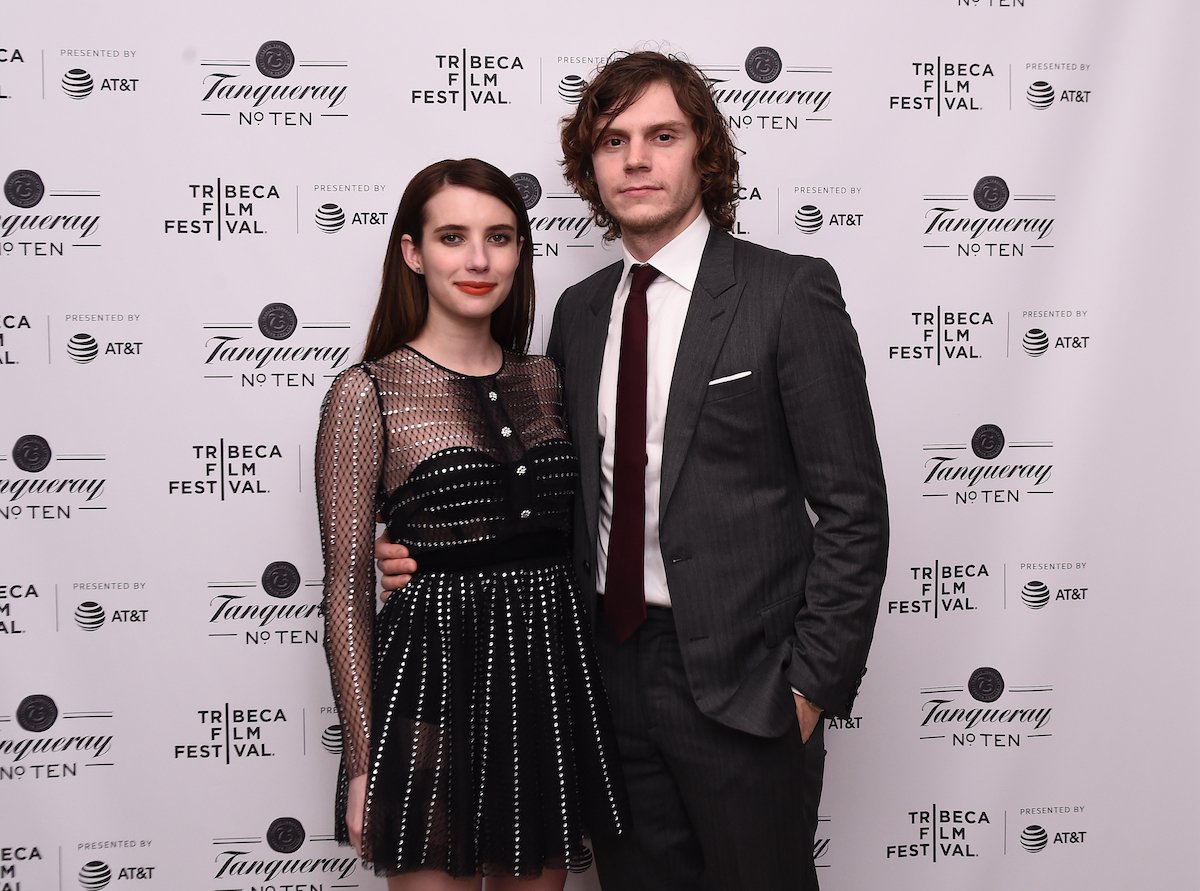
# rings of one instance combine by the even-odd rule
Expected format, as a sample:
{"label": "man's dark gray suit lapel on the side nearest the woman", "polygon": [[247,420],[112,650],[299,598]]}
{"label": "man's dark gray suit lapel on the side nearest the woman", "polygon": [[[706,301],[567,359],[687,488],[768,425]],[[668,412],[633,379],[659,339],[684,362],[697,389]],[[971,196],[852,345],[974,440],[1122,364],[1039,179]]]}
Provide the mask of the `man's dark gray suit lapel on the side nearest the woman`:
{"label": "man's dark gray suit lapel on the side nearest the woman", "polygon": [[605,269],[596,280],[583,311],[583,329],[574,345],[575,352],[568,359],[574,365],[575,381],[575,443],[580,455],[580,488],[583,492],[583,516],[588,524],[588,542],[598,537],[600,513],[600,431],[596,421],[596,405],[600,399],[600,367],[604,364],[604,347],[608,339],[608,317],[612,299],[620,282],[622,263]]}

